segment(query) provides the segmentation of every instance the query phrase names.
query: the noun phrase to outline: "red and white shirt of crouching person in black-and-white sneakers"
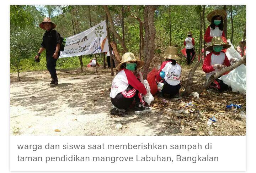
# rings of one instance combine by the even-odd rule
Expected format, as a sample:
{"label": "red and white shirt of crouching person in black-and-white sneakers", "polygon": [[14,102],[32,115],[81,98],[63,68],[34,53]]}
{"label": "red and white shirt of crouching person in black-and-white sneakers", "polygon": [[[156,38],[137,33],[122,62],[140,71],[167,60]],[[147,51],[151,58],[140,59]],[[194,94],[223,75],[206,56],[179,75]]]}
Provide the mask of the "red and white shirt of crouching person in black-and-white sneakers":
{"label": "red and white shirt of crouching person in black-and-white sneakers", "polygon": [[[129,92],[126,91],[127,87],[132,85],[133,89]],[[112,82],[110,97],[114,98],[118,93],[122,93],[124,97],[130,98],[136,94],[136,90],[139,93],[146,95],[147,91],[145,86],[135,77],[132,71],[123,68],[117,73]]]}

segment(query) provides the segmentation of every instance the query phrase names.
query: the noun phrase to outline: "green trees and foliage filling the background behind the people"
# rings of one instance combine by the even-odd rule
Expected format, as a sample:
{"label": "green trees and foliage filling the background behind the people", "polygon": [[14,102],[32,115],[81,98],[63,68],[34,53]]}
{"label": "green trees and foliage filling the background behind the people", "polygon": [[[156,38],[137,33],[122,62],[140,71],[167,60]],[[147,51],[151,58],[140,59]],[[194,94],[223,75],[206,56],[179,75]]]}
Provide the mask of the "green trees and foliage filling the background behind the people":
{"label": "green trees and foliage filling the background behind the people", "polygon": [[[145,44],[145,38],[151,38],[151,35],[148,35],[150,32],[145,32],[145,8],[148,8],[148,6],[90,6],[89,11],[88,6],[74,5],[10,6],[10,39],[15,40],[10,43],[10,51],[15,52],[14,50],[16,49],[16,52],[18,52],[17,48],[19,48],[26,52],[26,54],[19,53],[21,59],[20,70],[46,69],[45,66],[33,62],[33,57],[37,54],[44,33],[44,30],[39,28],[38,24],[42,22],[45,16],[50,16],[52,21],[57,24],[56,30],[58,30],[62,37],[70,37],[89,29],[91,25],[94,26],[105,20],[107,12],[107,14],[111,16],[111,18],[108,18],[110,39],[116,41],[118,52],[121,55],[126,51],[133,52],[135,56],[144,60],[146,57],[144,51],[148,48]],[[107,11],[105,12],[106,9]],[[153,55],[153,57],[149,58],[151,61],[149,67],[157,67],[160,65],[163,61],[160,55],[164,53],[166,46],[169,45],[177,45],[178,54],[182,57],[179,63],[184,65],[186,58],[181,55],[181,50],[184,48],[183,42],[187,37],[186,34],[188,31],[192,31],[193,33],[196,54],[199,55],[202,49],[201,43],[204,43],[203,37],[200,37],[200,33],[202,32],[203,35],[205,29],[209,26],[210,23],[207,21],[206,16],[214,9],[224,9],[224,6],[157,6],[153,11],[155,41],[154,49],[150,52],[150,55]],[[203,10],[205,17],[202,15]],[[227,39],[232,39],[236,47],[239,45],[239,41],[244,37],[244,33],[246,33],[246,7],[239,5],[232,7],[226,6],[226,11],[228,13],[226,26]],[[201,28],[202,18],[204,18],[204,20]],[[20,39],[20,35],[23,35],[22,39]],[[31,35],[33,37],[31,37]],[[11,56],[12,55],[14,54],[11,54]],[[44,54],[41,55],[41,58],[43,58],[43,56]],[[85,66],[87,65],[87,61],[84,60],[84,58],[90,59],[92,56],[94,55],[86,55],[80,58],[76,57],[78,59],[77,64],[73,64],[77,62],[74,60],[74,57],[60,58],[57,67],[78,68]],[[103,56],[97,55],[97,61],[101,63]],[[11,64],[11,71],[15,69],[16,68]]]}

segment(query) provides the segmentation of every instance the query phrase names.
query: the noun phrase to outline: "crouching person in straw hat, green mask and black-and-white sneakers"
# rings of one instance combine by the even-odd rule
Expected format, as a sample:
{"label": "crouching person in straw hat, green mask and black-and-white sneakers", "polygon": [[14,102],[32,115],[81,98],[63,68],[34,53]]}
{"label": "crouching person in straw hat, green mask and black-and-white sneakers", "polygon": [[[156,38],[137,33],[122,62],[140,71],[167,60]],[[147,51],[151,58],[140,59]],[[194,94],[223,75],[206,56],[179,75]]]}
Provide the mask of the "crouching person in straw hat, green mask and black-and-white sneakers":
{"label": "crouching person in straw hat, green mask and black-and-white sneakers", "polygon": [[127,52],[122,56],[122,62],[116,67],[119,71],[111,86],[110,97],[114,108],[125,112],[135,100],[135,114],[151,112],[152,108],[145,105],[143,95],[147,91],[142,82],[134,75],[137,68],[142,67],[143,61],[137,60],[133,53]]}

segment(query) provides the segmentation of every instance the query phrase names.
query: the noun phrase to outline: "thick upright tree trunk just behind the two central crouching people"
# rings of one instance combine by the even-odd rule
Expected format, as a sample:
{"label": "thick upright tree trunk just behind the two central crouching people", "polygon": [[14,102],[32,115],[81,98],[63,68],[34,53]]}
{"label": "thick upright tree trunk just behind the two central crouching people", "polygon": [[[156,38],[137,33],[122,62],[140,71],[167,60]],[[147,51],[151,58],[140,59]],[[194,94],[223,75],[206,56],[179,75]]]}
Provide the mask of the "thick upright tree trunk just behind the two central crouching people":
{"label": "thick upright tree trunk just behind the two central crouching people", "polygon": [[[152,61],[155,53],[155,25],[154,25],[154,13],[156,10],[157,6],[149,5],[145,6],[145,17],[144,17],[144,24],[145,24],[145,39],[144,43],[147,43],[148,48],[146,49],[147,51],[144,51],[144,65],[142,67],[142,73],[143,73],[143,78],[147,78],[147,74],[149,71],[149,66],[150,62]],[[148,34],[148,35],[147,35]],[[144,50],[145,46],[144,44]]]}

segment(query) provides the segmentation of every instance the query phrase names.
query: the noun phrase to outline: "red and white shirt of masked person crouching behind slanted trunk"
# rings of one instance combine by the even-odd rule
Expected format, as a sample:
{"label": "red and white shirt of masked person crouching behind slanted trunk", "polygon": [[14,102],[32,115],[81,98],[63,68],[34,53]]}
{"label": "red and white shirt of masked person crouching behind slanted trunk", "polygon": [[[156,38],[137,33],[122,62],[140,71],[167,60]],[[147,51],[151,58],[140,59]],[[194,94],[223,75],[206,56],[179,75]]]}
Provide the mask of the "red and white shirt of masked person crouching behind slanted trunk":
{"label": "red and white shirt of masked person crouching behind slanted trunk", "polygon": [[219,53],[210,52],[204,58],[203,71],[206,73],[206,79],[208,79],[214,72],[219,71],[219,69],[213,68],[213,65],[215,64],[222,64],[227,67],[230,66],[229,59],[223,51],[220,51]]}

